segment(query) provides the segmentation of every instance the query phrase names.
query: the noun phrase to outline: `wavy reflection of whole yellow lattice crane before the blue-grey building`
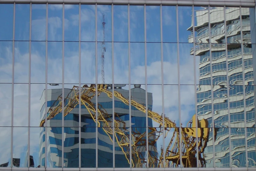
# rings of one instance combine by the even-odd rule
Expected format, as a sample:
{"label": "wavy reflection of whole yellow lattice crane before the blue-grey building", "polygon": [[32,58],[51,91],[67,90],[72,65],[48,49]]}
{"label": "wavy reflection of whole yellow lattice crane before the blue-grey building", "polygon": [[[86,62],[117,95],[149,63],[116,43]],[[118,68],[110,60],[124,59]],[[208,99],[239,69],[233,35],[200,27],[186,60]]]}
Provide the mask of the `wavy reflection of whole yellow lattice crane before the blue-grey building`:
{"label": "wavy reflection of whole yellow lattice crane before the blue-grey building", "polygon": [[[98,90],[98,95],[101,92],[104,92],[108,95],[108,97],[113,98],[113,93],[111,91],[108,91],[106,89],[107,85],[98,85],[97,90]],[[96,95],[96,86],[91,85],[88,87],[87,85],[84,87],[81,87],[81,103],[87,108],[89,111],[92,119],[96,122],[96,105],[91,102],[92,98]],[[129,101],[122,96],[121,93],[114,91],[114,96],[123,101],[125,104],[129,105]],[[65,105],[64,108],[64,114],[63,116],[65,117],[69,112],[71,112],[77,104],[79,104],[79,87],[74,86],[72,91],[68,94],[68,96],[64,100]],[[98,104],[99,105],[99,104]],[[146,113],[145,106],[131,100],[131,105],[136,107],[138,110],[142,111],[143,113]],[[54,102],[53,106],[50,107],[48,113],[49,116],[47,119],[51,119],[54,116],[56,116],[58,113],[62,111],[62,97],[59,96],[58,99]],[[113,123],[112,118],[118,117],[118,115],[115,115],[115,117],[110,117],[105,109],[102,108],[101,105],[99,105],[98,108],[98,123],[97,126],[100,126],[100,121],[101,124],[103,124],[102,129],[106,134],[110,137],[111,141],[112,137],[111,135],[115,136],[115,139],[118,142],[118,146],[122,149],[123,153],[125,154],[125,157],[130,163],[130,152],[129,152],[129,137],[126,135],[124,132],[127,132],[125,129],[125,122],[122,121],[120,118],[117,120],[114,119],[114,124],[115,124],[115,130],[113,133],[113,129],[111,128],[111,124]],[[160,137],[160,135],[163,133],[162,127],[163,127],[163,117],[160,116],[158,113],[155,113],[153,111],[148,110],[148,117],[156,121],[157,123],[160,124],[160,131],[152,130],[152,132],[149,132],[148,136],[154,136],[156,137],[155,139],[151,140],[149,139],[149,144],[153,144],[151,148],[156,148],[154,146],[155,142],[157,139]],[[107,120],[106,120],[107,118]],[[164,127],[165,127],[165,137],[167,133],[170,131],[167,128],[175,128],[173,132],[172,139],[170,143],[168,144],[166,148],[165,154],[163,151],[161,152],[159,158],[158,156],[151,155],[150,152],[148,153],[148,161],[150,163],[151,167],[163,167],[163,155],[165,155],[165,160],[166,160],[166,166],[170,167],[170,163],[173,163],[176,167],[179,165],[179,156],[181,153],[181,158],[182,158],[182,163],[184,164],[185,167],[191,167],[192,165],[195,165],[194,162],[194,157],[196,154],[196,137],[195,134],[193,135],[193,132],[195,133],[195,129],[193,128],[181,128],[181,152],[180,152],[180,133],[179,133],[179,128],[176,127],[176,124],[171,121],[169,118],[164,117]],[[193,124],[195,124],[195,118],[193,117]],[[201,121],[200,121],[201,122]],[[42,120],[40,123],[40,126],[43,126],[45,123],[45,120]],[[208,124],[207,121],[203,120],[204,124]],[[121,130],[120,124],[123,125]],[[153,128],[152,128],[153,129]],[[156,132],[159,133],[159,135],[156,135]],[[202,133],[201,133],[202,132]],[[191,134],[192,133],[192,134]],[[206,147],[207,144],[207,137],[208,137],[209,129],[207,127],[204,127],[203,130],[199,130],[198,134],[201,139],[199,140],[199,148],[200,148],[200,154],[203,153],[204,148]],[[132,131],[132,157],[135,161],[135,163],[132,160],[132,165],[136,164],[135,167],[141,167],[143,163],[145,163],[144,157],[140,154],[140,150],[137,148],[144,148],[146,143],[141,143],[142,137],[145,136],[144,134],[136,134],[136,132]],[[175,141],[174,141],[174,137]],[[202,139],[204,141],[203,147],[201,147]],[[144,140],[143,140],[144,141]],[[139,143],[140,142],[140,143]],[[171,147],[172,143],[175,142],[175,144]],[[124,150],[126,148],[126,150]],[[157,149],[154,149],[157,150]],[[200,158],[201,165],[205,163],[204,159]],[[173,165],[173,166],[174,166]]]}

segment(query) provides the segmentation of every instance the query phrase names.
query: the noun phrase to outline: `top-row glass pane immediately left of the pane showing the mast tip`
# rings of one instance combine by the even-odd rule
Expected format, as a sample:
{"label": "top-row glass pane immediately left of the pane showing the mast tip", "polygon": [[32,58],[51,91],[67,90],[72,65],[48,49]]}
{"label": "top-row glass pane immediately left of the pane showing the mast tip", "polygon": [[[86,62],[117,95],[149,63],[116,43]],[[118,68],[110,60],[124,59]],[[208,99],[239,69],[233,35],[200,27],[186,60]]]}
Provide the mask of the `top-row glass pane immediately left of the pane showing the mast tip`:
{"label": "top-row glass pane immediately left of the pane showing the mast tip", "polygon": [[81,41],[95,41],[95,5],[81,5]]}

